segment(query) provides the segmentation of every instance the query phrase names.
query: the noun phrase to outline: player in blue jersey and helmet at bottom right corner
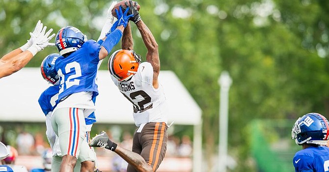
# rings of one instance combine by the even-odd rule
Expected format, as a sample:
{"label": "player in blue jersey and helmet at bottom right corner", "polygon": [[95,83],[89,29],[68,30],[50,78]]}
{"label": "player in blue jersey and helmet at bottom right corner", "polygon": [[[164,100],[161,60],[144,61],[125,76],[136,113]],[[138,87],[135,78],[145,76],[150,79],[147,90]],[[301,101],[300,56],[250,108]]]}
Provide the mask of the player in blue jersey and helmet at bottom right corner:
{"label": "player in blue jersey and helmet at bottom right corner", "polygon": [[291,138],[302,146],[294,158],[296,172],[328,172],[329,122],[318,113],[309,113],[298,118],[291,132]]}

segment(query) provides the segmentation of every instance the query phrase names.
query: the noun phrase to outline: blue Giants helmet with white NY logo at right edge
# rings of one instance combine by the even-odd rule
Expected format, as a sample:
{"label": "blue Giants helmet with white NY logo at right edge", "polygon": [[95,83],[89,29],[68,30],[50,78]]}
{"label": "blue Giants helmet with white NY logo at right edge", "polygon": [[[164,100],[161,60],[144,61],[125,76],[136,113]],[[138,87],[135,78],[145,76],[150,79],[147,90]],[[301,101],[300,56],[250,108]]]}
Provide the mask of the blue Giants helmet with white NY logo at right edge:
{"label": "blue Giants helmet with white NY logo at right edge", "polygon": [[329,139],[328,120],[321,114],[309,113],[298,118],[291,131],[296,144],[312,143],[325,145]]}

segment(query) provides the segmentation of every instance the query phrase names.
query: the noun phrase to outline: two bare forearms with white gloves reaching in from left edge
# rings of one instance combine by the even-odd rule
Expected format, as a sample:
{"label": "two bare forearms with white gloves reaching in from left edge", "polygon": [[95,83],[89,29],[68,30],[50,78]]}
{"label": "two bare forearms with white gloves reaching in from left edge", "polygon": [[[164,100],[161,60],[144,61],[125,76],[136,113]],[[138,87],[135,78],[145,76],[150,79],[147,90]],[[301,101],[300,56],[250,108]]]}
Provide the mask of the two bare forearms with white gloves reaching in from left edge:
{"label": "two bare forearms with white gloves reaching in from left edge", "polygon": [[47,32],[46,29],[47,27],[43,27],[39,20],[33,32],[30,32],[31,38],[27,40],[26,44],[0,58],[0,78],[21,70],[39,51],[47,46],[55,45],[49,43],[55,36],[55,33],[50,35],[53,29],[49,29]]}

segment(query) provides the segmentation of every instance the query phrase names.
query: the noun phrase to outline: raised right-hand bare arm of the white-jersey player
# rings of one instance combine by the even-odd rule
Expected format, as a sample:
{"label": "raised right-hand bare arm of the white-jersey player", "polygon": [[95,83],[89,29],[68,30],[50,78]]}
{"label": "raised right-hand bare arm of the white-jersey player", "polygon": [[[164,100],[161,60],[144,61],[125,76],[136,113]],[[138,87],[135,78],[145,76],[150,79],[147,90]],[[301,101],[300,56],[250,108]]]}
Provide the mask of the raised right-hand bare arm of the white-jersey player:
{"label": "raised right-hand bare arm of the white-jersey player", "polygon": [[158,88],[158,76],[160,73],[160,58],[158,51],[158,43],[155,40],[152,32],[142,20],[136,23],[136,26],[141,34],[143,42],[146,46],[146,61],[152,64],[153,67],[153,87]]}

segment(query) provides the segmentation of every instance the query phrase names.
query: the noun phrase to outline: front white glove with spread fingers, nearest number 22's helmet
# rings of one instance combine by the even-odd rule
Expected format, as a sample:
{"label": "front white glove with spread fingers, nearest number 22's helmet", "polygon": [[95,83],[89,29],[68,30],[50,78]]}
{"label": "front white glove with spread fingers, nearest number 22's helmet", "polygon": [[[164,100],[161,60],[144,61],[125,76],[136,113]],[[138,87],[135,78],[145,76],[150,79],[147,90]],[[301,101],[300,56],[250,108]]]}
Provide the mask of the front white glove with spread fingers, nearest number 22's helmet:
{"label": "front white glove with spread fingers, nearest number 22's helmet", "polygon": [[27,50],[30,51],[33,56],[35,56],[35,54],[37,54],[39,51],[43,50],[45,47],[55,45],[55,43],[49,42],[55,36],[55,33],[50,35],[50,33],[53,31],[53,29],[49,29],[47,32],[46,32],[46,29],[47,29],[47,27],[45,26],[45,27],[43,27],[41,32],[36,32],[36,34],[33,34],[32,32],[29,33],[31,35],[31,39],[32,39],[32,46],[30,48],[28,48]]}

